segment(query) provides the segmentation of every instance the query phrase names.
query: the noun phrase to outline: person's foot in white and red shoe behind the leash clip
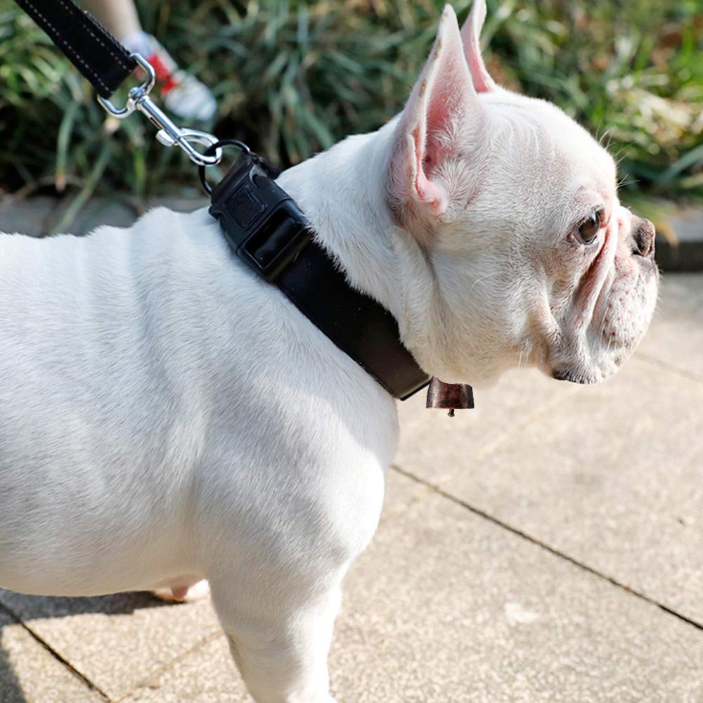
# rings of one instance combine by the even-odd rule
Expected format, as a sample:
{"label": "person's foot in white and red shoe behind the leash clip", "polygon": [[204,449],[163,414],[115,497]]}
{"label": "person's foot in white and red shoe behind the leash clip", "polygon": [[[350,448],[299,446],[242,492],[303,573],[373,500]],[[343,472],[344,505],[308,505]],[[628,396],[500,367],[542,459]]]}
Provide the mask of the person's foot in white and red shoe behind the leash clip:
{"label": "person's foot in white and red shoe behind the leash clip", "polygon": [[[159,94],[167,110],[183,120],[209,120],[217,103],[209,88],[195,76],[181,70],[156,37],[140,32],[139,37],[124,41],[130,51],[136,51],[154,67],[159,82]],[[137,46],[138,44],[138,46]]]}

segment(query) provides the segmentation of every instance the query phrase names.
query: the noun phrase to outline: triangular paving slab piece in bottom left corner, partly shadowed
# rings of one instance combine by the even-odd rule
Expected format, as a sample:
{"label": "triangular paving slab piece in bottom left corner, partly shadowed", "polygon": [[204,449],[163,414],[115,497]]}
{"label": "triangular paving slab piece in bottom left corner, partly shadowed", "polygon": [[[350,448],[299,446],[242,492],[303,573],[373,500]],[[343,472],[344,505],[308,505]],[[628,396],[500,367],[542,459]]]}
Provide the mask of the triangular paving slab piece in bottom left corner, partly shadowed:
{"label": "triangular paving slab piece in bottom left corner, partly shadowed", "polygon": [[104,699],[0,608],[1,703],[97,703]]}

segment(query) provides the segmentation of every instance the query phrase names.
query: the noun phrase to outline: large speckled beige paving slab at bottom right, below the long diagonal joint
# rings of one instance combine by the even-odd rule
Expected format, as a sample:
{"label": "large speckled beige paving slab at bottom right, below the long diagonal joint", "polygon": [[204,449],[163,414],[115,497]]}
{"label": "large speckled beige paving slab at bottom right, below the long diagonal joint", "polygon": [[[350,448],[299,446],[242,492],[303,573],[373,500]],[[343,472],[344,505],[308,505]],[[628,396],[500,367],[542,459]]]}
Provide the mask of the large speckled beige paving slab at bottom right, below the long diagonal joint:
{"label": "large speckled beige paving slab at bottom right, below the long diagonal joint", "polygon": [[382,524],[345,591],[340,703],[703,700],[699,630],[437,495]]}

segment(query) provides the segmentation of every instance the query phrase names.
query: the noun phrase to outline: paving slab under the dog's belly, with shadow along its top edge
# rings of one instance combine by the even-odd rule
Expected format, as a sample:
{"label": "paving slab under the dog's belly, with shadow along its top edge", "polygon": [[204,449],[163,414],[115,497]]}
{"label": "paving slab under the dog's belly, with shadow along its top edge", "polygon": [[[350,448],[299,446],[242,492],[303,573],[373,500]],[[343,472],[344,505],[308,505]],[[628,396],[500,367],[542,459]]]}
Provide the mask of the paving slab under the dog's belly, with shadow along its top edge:
{"label": "paving slab under the dog's belly, with shadow along its top edge", "polygon": [[148,593],[0,602],[91,683],[117,699],[219,632],[209,600],[161,604]]}

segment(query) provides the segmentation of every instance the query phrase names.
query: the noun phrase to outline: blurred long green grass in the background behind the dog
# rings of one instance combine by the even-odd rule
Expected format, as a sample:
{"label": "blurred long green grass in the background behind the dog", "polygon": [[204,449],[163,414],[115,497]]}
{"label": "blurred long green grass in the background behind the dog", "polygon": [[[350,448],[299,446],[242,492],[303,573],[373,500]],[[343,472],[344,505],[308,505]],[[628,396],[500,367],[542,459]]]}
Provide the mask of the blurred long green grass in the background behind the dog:
{"label": "blurred long green grass in the background behind the dog", "polygon": [[[469,2],[454,4],[460,20]],[[212,86],[221,138],[289,165],[404,103],[441,2],[138,2],[143,25]],[[498,82],[564,108],[610,141],[625,200],[703,200],[699,0],[489,0]],[[120,101],[116,96],[115,102]],[[89,85],[10,0],[0,0],[0,195],[195,192],[195,169],[145,119],[108,120]]]}

